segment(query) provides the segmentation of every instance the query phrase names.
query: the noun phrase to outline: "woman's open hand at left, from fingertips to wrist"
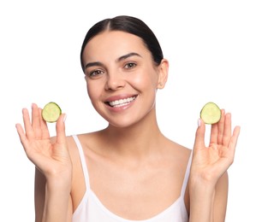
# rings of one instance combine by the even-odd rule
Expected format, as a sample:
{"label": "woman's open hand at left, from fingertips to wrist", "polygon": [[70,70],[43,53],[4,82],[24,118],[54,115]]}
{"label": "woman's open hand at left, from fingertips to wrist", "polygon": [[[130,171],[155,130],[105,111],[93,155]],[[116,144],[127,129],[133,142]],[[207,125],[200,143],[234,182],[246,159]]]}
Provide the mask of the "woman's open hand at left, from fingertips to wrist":
{"label": "woman's open hand at left, from fingertips to wrist", "polygon": [[56,141],[52,142],[41,112],[42,109],[33,104],[32,121],[30,121],[27,108],[23,108],[25,131],[21,124],[16,124],[23,148],[28,159],[39,168],[46,179],[59,175],[60,178],[66,177],[71,180],[72,164],[65,135],[65,114],[62,114],[57,120],[57,137]]}

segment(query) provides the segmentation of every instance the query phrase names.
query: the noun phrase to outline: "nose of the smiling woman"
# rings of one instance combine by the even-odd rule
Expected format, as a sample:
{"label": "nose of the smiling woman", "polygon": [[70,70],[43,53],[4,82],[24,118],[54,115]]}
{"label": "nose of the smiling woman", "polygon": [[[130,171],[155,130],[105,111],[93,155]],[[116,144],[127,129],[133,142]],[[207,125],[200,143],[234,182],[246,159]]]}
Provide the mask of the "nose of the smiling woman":
{"label": "nose of the smiling woman", "polygon": [[111,72],[108,73],[105,90],[107,91],[116,91],[123,88],[125,85],[125,79],[122,76],[122,73]]}

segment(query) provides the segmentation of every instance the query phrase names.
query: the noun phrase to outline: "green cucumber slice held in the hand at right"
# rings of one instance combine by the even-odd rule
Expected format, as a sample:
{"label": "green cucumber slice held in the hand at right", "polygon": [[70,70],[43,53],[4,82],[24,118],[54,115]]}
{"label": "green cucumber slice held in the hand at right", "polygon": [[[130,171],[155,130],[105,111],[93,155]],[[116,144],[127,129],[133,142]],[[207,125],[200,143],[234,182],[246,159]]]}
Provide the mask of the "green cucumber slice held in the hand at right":
{"label": "green cucumber slice held in the hand at right", "polygon": [[221,116],[221,109],[214,102],[207,102],[200,112],[200,118],[205,124],[215,124],[221,119]]}

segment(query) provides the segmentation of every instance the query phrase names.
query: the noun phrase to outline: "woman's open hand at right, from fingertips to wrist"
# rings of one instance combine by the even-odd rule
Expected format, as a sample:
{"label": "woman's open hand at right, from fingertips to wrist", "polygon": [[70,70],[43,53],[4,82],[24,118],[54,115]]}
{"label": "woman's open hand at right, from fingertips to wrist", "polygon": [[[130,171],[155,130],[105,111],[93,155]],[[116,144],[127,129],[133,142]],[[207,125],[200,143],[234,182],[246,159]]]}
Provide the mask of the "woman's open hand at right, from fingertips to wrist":
{"label": "woman's open hand at right, from fingertips to wrist", "polygon": [[205,123],[199,120],[193,147],[191,175],[215,185],[234,161],[239,133],[240,126],[235,126],[232,134],[231,114],[225,114],[222,110],[221,120],[211,126],[209,147],[205,147]]}

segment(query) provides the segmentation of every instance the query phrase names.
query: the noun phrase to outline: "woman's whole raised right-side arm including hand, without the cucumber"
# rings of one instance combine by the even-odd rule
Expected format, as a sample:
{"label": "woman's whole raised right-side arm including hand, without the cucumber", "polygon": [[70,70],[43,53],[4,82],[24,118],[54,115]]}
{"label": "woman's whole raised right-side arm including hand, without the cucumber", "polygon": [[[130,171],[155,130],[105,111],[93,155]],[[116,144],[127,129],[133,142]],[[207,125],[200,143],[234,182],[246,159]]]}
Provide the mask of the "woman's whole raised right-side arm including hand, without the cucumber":
{"label": "woman's whole raised right-side arm including hand, without the cucumber", "polygon": [[211,126],[209,147],[205,147],[205,123],[200,120],[193,148],[189,179],[190,217],[193,222],[222,222],[225,219],[228,177],[234,161],[240,127],[231,133],[231,115]]}

